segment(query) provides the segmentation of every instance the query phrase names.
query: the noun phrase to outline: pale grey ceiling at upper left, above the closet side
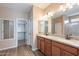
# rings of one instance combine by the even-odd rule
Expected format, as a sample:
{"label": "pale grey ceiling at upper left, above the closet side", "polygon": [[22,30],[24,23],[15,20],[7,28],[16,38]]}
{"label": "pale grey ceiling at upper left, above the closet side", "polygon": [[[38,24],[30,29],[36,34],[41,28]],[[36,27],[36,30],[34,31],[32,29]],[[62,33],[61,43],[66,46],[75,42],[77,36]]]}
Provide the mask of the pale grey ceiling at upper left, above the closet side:
{"label": "pale grey ceiling at upper left, above the closet side", "polygon": [[0,3],[0,7],[5,7],[10,11],[14,12],[30,12],[32,4],[26,3]]}

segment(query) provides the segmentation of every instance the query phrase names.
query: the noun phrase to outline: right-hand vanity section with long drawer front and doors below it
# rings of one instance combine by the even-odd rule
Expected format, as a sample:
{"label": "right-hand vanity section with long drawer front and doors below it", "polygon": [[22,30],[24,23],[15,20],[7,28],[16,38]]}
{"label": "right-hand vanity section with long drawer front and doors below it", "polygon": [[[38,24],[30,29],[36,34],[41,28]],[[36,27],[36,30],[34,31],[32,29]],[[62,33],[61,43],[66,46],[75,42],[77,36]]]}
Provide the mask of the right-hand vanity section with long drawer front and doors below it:
{"label": "right-hand vanity section with long drawer front and doors below it", "polygon": [[77,55],[77,49],[66,44],[52,41],[52,55],[75,56]]}

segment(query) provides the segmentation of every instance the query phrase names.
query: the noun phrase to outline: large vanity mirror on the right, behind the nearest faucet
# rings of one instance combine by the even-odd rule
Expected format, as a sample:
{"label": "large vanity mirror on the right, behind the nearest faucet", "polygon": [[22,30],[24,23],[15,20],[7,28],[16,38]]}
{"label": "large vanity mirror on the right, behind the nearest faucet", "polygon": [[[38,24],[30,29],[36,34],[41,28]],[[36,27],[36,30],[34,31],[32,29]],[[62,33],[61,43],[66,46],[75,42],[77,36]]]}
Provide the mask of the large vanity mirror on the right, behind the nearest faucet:
{"label": "large vanity mirror on the right, behind the nearest faucet", "polygon": [[79,36],[79,6],[52,17],[52,34]]}

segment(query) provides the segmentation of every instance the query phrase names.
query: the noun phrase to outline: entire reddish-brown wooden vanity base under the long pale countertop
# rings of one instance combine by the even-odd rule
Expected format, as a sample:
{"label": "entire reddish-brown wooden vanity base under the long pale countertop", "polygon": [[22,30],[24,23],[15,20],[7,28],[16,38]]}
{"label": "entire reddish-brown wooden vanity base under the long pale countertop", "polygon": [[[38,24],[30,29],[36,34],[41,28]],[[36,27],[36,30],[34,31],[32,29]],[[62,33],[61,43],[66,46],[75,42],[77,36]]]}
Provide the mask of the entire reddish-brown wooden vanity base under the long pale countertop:
{"label": "entire reddish-brown wooden vanity base under the long pale countertop", "polygon": [[77,56],[79,48],[37,36],[37,48],[47,56]]}

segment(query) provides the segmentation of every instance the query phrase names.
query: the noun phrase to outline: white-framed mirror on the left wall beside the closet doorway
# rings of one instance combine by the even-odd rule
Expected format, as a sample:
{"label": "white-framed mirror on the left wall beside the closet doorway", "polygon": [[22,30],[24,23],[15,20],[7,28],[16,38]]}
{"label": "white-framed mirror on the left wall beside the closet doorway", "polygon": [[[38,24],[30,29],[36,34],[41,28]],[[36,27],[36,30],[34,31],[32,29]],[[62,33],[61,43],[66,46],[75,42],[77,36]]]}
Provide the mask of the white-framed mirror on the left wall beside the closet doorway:
{"label": "white-framed mirror on the left wall beside the closet doorway", "polygon": [[14,21],[13,20],[0,20],[0,39],[13,39],[14,38]]}

